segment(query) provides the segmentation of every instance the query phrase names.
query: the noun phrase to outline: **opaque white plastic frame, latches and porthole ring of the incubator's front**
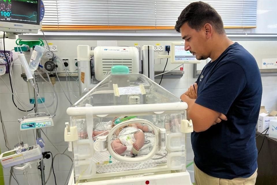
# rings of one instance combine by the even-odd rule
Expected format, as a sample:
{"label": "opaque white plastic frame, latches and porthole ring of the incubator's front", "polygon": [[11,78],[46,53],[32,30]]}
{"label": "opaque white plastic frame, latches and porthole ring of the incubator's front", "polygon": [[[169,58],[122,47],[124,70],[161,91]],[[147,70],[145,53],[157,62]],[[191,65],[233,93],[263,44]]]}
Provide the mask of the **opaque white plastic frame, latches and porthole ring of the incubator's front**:
{"label": "opaque white plastic frame, latches and porthole ring of the incubator's front", "polygon": [[[70,107],[67,109],[67,114],[72,116],[71,119],[78,119],[78,117],[85,117],[87,120],[87,123],[93,123],[93,115],[97,116],[99,118],[106,117],[108,115],[118,115],[118,114],[128,114],[128,115],[158,115],[158,114],[164,114],[164,113],[174,113],[174,112],[184,112],[184,110],[187,109],[187,103],[185,102],[175,102],[175,103],[159,103],[159,104],[144,104],[144,105],[119,105],[119,106],[91,106],[87,105],[86,107]],[[163,111],[166,110],[166,111]],[[131,124],[131,123],[143,123],[147,126],[150,126],[153,130],[153,133],[155,134],[155,143],[153,146],[152,151],[143,157],[136,157],[136,158],[127,158],[124,156],[119,156],[116,154],[113,149],[111,148],[111,138],[115,131],[124,125]],[[138,174],[141,173],[153,173],[153,172],[160,172],[160,171],[168,171],[168,170],[181,170],[186,169],[184,165],[186,164],[180,164],[178,160],[186,160],[186,153],[183,151],[180,151],[180,147],[174,147],[171,146],[172,140],[182,140],[184,142],[183,146],[185,145],[186,135],[185,133],[190,133],[193,131],[192,122],[188,120],[182,120],[181,122],[181,133],[170,133],[166,134],[165,129],[158,128],[154,126],[151,122],[144,120],[144,119],[134,119],[129,121],[124,121],[122,123],[117,124],[115,127],[111,129],[108,135],[106,136],[99,136],[98,140],[96,142],[93,142],[92,134],[88,131],[88,136],[91,137],[91,139],[84,139],[84,140],[78,140],[77,136],[77,129],[76,126],[70,126],[67,123],[67,128],[65,128],[65,141],[71,141],[73,143],[74,147],[80,147],[81,151],[78,154],[78,159],[83,159],[81,161],[75,161],[74,159],[74,166],[79,166],[79,171],[74,171],[72,173],[71,177],[71,183],[74,184],[74,175],[75,177],[78,177],[78,179],[100,179],[100,178],[107,178],[107,177],[117,177],[117,176],[128,176],[132,174]],[[87,125],[88,129],[93,126]],[[106,147],[104,147],[106,146]],[[167,165],[166,166],[156,166],[154,168],[149,169],[143,169],[143,170],[131,170],[131,171],[118,171],[118,172],[110,172],[110,173],[96,173],[96,165],[91,162],[91,158],[93,158],[93,155],[95,151],[106,151],[108,150],[111,156],[113,156],[115,159],[119,161],[125,161],[125,162],[141,162],[145,161],[149,158],[151,158],[156,151],[160,149],[169,149],[170,151],[173,151],[167,155]],[[74,150],[73,150],[74,151]],[[181,159],[180,159],[181,158]],[[82,167],[83,166],[83,167]],[[183,174],[183,176],[179,176]],[[184,184],[188,182],[188,185],[191,185],[190,183],[190,176],[187,171],[181,172],[181,173],[168,173],[168,174],[161,174],[159,175],[160,179],[166,177],[168,182],[182,182],[183,178],[186,179]],[[144,176],[143,176],[144,177]],[[147,178],[146,178],[147,177]],[[146,176],[144,178],[140,177],[139,180],[131,181],[133,184],[139,183],[141,181],[144,181],[144,179],[149,179],[149,176]],[[177,177],[180,177],[179,179]],[[152,177],[151,177],[152,178]],[[150,179],[151,179],[150,178]],[[155,177],[156,178],[156,177]],[[177,178],[177,179],[176,179]],[[73,181],[72,181],[73,180]],[[126,182],[129,182],[130,179],[128,179]],[[163,179],[161,182],[167,182],[167,180]],[[76,180],[77,181],[77,180]],[[112,183],[113,182],[113,183]],[[119,184],[122,184],[122,181],[118,182]],[[72,185],[73,185],[72,184]],[[99,180],[94,182],[86,182],[86,183],[78,183],[78,184],[85,184],[85,185],[100,185],[100,184],[117,184],[114,180]]]}

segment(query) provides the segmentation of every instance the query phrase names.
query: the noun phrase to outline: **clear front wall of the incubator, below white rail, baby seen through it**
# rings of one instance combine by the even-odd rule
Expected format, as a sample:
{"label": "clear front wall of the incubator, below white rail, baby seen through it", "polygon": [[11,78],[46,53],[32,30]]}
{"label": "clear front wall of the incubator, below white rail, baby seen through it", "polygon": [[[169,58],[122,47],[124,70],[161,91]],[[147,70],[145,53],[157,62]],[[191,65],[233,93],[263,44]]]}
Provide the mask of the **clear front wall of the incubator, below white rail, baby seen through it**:
{"label": "clear front wall of the incubator, below white rail, baby seen through it", "polygon": [[[87,123],[85,117],[72,117],[71,125],[78,130],[78,141],[73,142],[74,149],[74,172],[76,182],[89,182],[120,178],[130,174],[145,174],[151,171],[153,174],[178,173],[186,170],[186,135],[181,133],[181,121],[185,119],[184,112],[148,114],[148,115],[124,115],[93,117],[93,123]],[[150,123],[141,123],[145,120]],[[136,123],[128,124],[128,121]],[[93,124],[93,127],[91,125]],[[111,133],[111,129],[118,125],[119,129]],[[93,128],[92,132],[89,128]],[[156,132],[156,131],[157,132]],[[165,130],[163,134],[160,132]],[[92,139],[89,139],[89,134]],[[115,155],[126,159],[142,158],[154,150],[155,143],[157,151],[149,159],[142,162],[126,162],[117,160],[106,151],[96,151],[96,143],[111,133],[111,140],[103,144],[104,148],[111,145]],[[157,135],[156,135],[156,134]],[[155,137],[157,136],[157,137]],[[102,138],[101,138],[102,137]],[[156,140],[157,139],[157,140]],[[163,149],[161,149],[164,146]],[[172,156],[172,157],[171,157]],[[143,172],[138,170],[144,169]],[[174,170],[172,170],[174,169]],[[113,172],[124,172],[113,174]],[[103,174],[107,175],[103,175]]]}

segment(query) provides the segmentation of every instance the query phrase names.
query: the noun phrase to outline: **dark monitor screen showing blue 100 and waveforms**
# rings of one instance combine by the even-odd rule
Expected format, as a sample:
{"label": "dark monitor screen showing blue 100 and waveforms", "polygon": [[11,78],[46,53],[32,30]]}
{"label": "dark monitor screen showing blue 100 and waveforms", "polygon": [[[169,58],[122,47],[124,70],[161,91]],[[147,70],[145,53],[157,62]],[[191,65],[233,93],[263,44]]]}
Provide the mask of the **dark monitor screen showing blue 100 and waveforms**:
{"label": "dark monitor screen showing blue 100 and waveforms", "polygon": [[1,1],[0,21],[40,25],[40,0]]}

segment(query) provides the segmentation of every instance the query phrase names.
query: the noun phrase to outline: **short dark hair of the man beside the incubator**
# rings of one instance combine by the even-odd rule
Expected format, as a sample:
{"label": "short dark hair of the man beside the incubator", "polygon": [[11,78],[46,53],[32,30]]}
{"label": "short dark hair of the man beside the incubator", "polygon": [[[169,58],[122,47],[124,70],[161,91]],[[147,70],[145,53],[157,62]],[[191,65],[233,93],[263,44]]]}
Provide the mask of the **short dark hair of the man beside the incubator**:
{"label": "short dark hair of the man beside the incubator", "polygon": [[175,29],[180,33],[180,27],[188,23],[189,27],[199,31],[206,23],[211,24],[218,34],[225,33],[220,15],[209,4],[202,1],[190,3],[178,17]]}

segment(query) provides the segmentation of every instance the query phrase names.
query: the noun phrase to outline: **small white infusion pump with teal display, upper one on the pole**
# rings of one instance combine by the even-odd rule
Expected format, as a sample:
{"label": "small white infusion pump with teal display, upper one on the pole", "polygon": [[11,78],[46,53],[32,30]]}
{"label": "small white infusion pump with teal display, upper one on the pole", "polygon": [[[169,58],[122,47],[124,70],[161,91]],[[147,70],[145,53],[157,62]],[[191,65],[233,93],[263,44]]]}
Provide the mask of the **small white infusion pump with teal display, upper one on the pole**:
{"label": "small white infusion pump with teal display, upper one on the pole", "polygon": [[45,112],[28,114],[19,119],[18,122],[20,123],[20,131],[54,126],[53,116]]}

